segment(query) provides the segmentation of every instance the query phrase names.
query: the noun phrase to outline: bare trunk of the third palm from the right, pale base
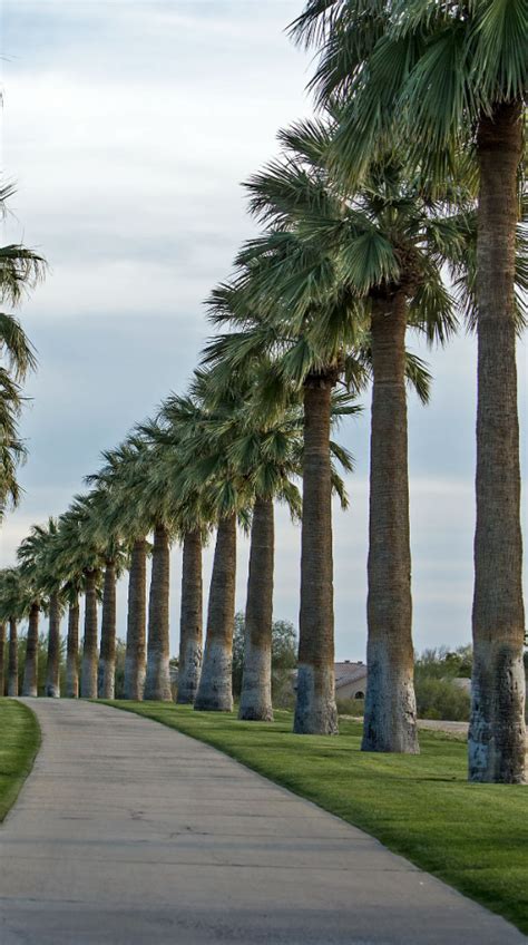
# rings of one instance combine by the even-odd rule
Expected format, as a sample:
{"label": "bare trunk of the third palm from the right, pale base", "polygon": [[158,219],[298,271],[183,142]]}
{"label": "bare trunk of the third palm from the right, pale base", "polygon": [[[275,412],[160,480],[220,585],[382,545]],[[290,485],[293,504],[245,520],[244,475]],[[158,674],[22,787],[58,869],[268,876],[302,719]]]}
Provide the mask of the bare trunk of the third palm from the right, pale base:
{"label": "bare trunk of the third palm from the right, pale base", "polygon": [[336,734],[330,411],[333,381],[304,384],[297,734]]}

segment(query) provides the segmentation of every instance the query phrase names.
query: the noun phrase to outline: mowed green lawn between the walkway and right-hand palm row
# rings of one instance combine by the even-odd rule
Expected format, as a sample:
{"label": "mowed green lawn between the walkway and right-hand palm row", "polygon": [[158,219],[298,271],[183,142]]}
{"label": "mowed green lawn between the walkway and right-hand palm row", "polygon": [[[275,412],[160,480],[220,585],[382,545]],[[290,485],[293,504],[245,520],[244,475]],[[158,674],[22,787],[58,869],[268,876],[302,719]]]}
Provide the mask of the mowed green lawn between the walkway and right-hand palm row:
{"label": "mowed green lawn between the walkway and right-hand palm row", "polygon": [[159,702],[110,702],[207,742],[349,820],[528,933],[528,788],[470,785],[466,742],[420,733],[421,754],[366,754],[361,725],[339,738]]}

